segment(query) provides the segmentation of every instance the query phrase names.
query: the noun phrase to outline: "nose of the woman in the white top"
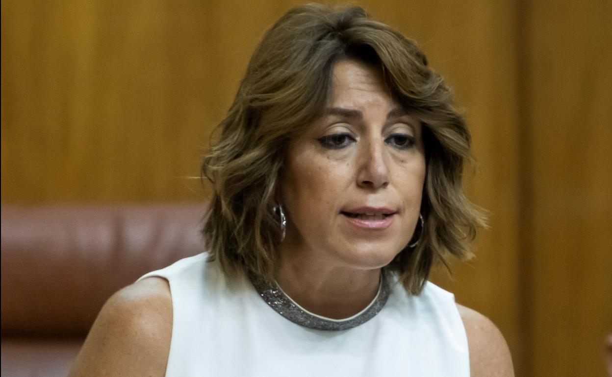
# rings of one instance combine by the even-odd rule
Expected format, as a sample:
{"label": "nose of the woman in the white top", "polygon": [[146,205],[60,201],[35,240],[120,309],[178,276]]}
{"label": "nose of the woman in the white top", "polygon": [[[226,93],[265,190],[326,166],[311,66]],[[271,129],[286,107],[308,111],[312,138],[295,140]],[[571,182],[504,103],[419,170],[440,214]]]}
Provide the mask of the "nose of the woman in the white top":
{"label": "nose of the woman in the white top", "polygon": [[359,153],[357,185],[367,189],[381,189],[389,185],[388,156],[383,142],[370,142]]}

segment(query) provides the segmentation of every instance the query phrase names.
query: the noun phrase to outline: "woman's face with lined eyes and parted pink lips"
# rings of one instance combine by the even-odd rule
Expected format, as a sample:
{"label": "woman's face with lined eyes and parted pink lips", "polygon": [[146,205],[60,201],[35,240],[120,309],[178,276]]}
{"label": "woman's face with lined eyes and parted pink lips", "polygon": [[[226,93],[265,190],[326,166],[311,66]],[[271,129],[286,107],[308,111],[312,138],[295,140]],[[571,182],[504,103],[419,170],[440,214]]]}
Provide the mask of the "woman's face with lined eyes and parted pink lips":
{"label": "woman's face with lined eyes and parted pink lips", "polygon": [[408,244],[419,218],[421,125],[375,68],[341,60],[333,76],[326,115],[289,147],[283,248],[332,265],[379,268]]}

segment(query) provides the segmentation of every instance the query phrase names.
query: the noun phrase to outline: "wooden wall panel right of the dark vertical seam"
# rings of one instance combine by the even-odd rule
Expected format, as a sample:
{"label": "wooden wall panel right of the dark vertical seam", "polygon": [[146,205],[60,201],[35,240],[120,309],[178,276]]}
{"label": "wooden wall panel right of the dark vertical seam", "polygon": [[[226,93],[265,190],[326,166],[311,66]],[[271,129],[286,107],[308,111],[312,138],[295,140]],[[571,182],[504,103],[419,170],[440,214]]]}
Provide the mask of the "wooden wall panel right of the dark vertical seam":
{"label": "wooden wall panel right of the dark vertical seam", "polygon": [[612,3],[527,4],[522,193],[533,376],[604,376],[612,332]]}

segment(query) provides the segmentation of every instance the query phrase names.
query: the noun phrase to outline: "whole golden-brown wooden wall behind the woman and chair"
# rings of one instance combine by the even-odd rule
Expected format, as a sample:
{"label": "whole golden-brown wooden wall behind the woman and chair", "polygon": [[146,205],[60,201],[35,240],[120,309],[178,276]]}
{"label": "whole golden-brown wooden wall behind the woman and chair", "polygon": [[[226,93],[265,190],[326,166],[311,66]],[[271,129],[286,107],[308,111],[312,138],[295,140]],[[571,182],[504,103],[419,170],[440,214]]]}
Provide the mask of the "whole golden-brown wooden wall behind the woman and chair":
{"label": "whole golden-brown wooden wall behind the woman and chair", "polygon": [[[2,205],[205,202],[209,135],[301,3],[2,0]],[[612,2],[351,4],[419,42],[474,137],[466,190],[491,228],[433,279],[498,325],[517,376],[603,376]]]}

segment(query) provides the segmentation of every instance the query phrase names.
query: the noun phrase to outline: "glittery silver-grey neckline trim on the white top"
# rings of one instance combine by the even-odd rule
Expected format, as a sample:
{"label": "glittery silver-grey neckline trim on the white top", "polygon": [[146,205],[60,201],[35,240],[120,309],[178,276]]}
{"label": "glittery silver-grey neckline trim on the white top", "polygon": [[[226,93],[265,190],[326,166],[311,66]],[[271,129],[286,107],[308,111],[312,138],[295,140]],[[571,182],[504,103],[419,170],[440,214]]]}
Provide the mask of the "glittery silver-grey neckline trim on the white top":
{"label": "glittery silver-grey neckline trim on the white top", "polygon": [[276,282],[269,282],[253,276],[249,276],[249,278],[259,296],[266,301],[266,304],[289,321],[309,329],[340,331],[352,329],[371,320],[383,309],[384,304],[386,304],[389,298],[390,291],[389,278],[386,275],[387,273],[383,269],[378,293],[376,293],[376,297],[370,302],[370,305],[362,312],[344,320],[334,320],[310,313],[289,298],[282,288],[278,287]]}

